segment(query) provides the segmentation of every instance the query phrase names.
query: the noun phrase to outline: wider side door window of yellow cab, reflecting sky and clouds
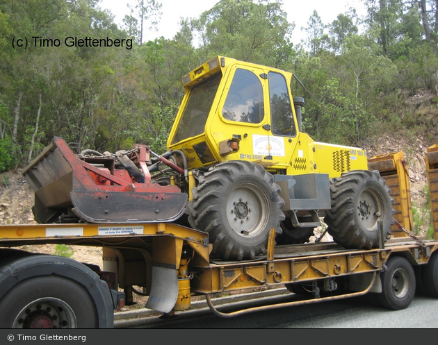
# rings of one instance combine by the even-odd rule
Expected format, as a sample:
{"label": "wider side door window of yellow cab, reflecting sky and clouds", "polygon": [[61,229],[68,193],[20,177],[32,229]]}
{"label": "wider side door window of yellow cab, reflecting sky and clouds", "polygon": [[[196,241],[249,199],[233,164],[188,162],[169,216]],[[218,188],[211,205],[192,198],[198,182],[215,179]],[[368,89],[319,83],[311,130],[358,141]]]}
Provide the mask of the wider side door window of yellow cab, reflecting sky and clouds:
{"label": "wider side door window of yellow cab, reflecting sky and clouds", "polygon": [[229,121],[259,124],[263,114],[263,88],[259,78],[247,69],[236,69],[222,116]]}

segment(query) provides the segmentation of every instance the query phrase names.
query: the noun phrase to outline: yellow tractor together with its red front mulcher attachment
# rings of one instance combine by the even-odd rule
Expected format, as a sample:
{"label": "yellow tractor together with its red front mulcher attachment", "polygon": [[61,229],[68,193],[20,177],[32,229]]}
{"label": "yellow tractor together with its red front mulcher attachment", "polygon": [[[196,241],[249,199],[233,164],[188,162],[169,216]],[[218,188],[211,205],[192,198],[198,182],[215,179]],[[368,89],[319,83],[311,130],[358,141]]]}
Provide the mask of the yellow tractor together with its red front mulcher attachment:
{"label": "yellow tractor together with its red front mulcher attachment", "polygon": [[[325,218],[346,248],[391,234],[394,199],[366,151],[314,142],[293,74],[218,56],[182,78],[168,152],[136,145],[74,155],[55,137],[24,169],[40,223],[176,221],[209,233],[211,258],[252,260],[309,242]],[[380,226],[382,224],[382,226]],[[271,236],[272,238],[272,236]]]}

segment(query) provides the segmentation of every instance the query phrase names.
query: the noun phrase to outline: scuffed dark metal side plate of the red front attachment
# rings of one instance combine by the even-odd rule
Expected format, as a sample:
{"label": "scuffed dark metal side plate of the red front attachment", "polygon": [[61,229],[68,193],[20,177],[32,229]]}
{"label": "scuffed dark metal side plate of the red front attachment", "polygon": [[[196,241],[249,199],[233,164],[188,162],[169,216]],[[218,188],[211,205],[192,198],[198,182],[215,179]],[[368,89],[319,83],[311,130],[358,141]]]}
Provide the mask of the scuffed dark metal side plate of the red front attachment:
{"label": "scuffed dark metal side plate of the red front attachment", "polygon": [[90,223],[174,221],[186,210],[183,193],[73,191],[72,211]]}

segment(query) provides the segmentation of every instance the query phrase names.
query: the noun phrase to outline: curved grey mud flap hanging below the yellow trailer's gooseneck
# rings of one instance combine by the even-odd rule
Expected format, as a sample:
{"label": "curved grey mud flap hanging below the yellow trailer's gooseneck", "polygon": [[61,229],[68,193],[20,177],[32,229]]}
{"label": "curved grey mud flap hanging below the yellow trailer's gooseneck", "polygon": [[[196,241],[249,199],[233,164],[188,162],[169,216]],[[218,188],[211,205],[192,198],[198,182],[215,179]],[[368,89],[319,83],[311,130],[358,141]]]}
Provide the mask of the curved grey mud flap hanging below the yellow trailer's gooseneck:
{"label": "curved grey mud flap hanging below the yellow trailer's gooseneck", "polygon": [[152,287],[146,308],[169,313],[178,298],[177,269],[170,264],[152,264]]}

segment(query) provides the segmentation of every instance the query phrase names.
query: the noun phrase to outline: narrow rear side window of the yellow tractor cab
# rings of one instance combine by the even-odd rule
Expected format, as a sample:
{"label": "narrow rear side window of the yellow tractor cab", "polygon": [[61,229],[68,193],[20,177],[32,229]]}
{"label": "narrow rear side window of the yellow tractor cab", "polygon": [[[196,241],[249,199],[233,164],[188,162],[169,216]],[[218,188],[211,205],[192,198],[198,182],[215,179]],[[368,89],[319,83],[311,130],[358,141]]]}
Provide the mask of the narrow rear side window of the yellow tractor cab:
{"label": "narrow rear side window of the yellow tractor cab", "polygon": [[273,134],[295,137],[292,103],[287,90],[286,79],[281,74],[269,72],[270,119]]}

